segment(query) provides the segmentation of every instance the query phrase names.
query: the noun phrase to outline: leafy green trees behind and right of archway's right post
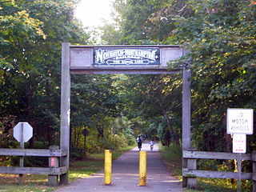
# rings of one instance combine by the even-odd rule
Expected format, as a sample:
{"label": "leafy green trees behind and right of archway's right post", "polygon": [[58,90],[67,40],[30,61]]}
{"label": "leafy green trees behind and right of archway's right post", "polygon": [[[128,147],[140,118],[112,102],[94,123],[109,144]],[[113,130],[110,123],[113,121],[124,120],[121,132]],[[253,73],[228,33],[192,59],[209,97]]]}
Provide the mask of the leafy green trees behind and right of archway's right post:
{"label": "leafy green trees behind and right of archway's right post", "polygon": [[[122,36],[119,43],[171,43],[190,49],[187,57],[170,62],[170,68],[180,70],[184,63],[190,62],[194,143],[199,150],[230,151],[226,109],[255,108],[255,3],[247,0],[117,0],[114,8],[118,25],[114,30]],[[181,116],[181,101],[169,99],[181,98],[181,76],[174,78],[174,81],[166,78],[170,82],[166,87],[147,77],[140,77],[137,82],[130,78],[133,87],[136,83],[139,86],[129,91],[133,100],[138,101],[133,101],[134,105],[130,106],[147,121],[152,116],[164,116],[167,123],[168,119],[173,120],[172,117],[177,119]],[[155,79],[161,82],[160,78]],[[166,107],[166,104],[170,106]],[[166,111],[166,115],[159,114],[158,110]],[[180,134],[178,121],[170,122],[166,126],[170,134]],[[160,129],[158,132],[164,138],[166,129],[162,130],[165,131]],[[174,139],[178,142],[178,138]],[[255,148],[254,139],[255,135],[249,139],[248,152]]]}

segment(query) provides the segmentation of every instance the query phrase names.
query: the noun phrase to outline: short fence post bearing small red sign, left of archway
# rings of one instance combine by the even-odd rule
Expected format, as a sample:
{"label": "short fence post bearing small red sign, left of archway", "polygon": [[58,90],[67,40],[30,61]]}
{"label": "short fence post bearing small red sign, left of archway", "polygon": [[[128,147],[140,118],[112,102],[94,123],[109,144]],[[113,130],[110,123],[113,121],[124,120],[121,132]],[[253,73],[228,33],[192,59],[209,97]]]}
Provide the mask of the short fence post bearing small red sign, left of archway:
{"label": "short fence post bearing small red sign, left of archway", "polygon": [[[49,150],[51,153],[54,152],[54,150],[59,150],[59,146],[49,146]],[[55,168],[58,167],[58,158],[57,157],[50,157],[49,158],[49,167]],[[58,186],[58,175],[49,174],[48,175],[48,182],[49,186]]]}

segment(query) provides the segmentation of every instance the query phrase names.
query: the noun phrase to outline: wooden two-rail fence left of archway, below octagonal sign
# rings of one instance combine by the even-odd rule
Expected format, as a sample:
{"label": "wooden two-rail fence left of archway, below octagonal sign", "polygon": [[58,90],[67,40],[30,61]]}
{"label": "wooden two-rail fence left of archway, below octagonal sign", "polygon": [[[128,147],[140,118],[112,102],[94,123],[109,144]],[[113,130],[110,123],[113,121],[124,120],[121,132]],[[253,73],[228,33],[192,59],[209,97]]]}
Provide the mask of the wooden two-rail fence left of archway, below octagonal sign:
{"label": "wooden two-rail fence left of archway, below octagonal sign", "polygon": [[[59,150],[58,146],[50,146],[49,149],[6,149],[0,148],[2,156],[23,156],[23,157],[46,157],[49,158],[49,167],[22,167],[22,166],[0,166],[1,174],[48,174],[50,186],[58,186],[58,176],[67,173],[67,167],[59,167],[59,158],[67,155],[66,150]],[[19,178],[19,183],[23,183]]]}

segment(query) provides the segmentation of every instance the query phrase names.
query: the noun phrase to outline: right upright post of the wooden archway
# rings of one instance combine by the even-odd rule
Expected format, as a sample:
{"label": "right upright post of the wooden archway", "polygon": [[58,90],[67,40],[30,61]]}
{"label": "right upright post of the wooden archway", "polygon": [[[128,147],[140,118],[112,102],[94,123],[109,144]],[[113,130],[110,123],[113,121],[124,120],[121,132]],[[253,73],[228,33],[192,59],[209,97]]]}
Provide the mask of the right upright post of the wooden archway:
{"label": "right upright post of the wooden archway", "polygon": [[[182,150],[190,148],[190,70],[183,67],[182,72]],[[182,158],[182,168],[187,168],[186,158]],[[182,177],[182,186],[187,186],[186,177]]]}

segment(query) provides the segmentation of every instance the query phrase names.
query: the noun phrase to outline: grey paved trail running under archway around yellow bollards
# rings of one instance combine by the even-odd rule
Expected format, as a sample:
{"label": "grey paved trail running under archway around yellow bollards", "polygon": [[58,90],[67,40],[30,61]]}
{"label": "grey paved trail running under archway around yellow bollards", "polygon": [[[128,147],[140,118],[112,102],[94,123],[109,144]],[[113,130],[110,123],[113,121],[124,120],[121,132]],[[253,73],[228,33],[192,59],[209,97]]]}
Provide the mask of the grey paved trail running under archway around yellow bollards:
{"label": "grey paved trail running under archway around yellow bollards", "polygon": [[180,192],[181,182],[170,175],[158,151],[158,145],[154,145],[154,151],[150,151],[148,143],[142,144],[142,150],[147,152],[147,186],[138,186],[138,148],[122,154],[112,164],[113,186],[103,186],[104,170],[88,177],[79,179],[64,186],[56,192],[118,192],[118,191],[146,191],[146,192]]}

